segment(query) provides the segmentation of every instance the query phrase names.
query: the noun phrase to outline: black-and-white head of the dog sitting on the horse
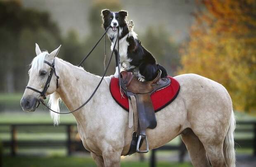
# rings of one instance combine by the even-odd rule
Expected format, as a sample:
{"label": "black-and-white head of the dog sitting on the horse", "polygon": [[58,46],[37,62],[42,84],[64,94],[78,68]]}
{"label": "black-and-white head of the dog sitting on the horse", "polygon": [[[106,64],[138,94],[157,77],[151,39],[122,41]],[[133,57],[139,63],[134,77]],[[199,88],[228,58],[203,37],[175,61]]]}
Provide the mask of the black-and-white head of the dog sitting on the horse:
{"label": "black-and-white head of the dog sitting on the horse", "polygon": [[105,30],[110,25],[113,32],[117,30],[117,27],[124,27],[126,26],[126,16],[127,12],[121,10],[119,12],[111,12],[109,9],[104,9],[101,11],[102,13],[102,20],[103,20],[103,27]]}

